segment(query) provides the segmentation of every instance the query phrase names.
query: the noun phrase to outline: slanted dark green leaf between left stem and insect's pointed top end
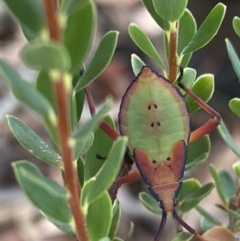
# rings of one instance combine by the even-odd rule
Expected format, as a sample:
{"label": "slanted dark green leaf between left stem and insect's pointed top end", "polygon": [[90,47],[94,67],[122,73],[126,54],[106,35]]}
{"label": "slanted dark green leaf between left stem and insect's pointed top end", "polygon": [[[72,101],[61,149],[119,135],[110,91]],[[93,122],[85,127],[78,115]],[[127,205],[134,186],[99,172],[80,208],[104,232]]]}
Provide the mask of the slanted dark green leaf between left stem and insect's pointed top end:
{"label": "slanted dark green leaf between left stem and insect's pointed top end", "polygon": [[92,83],[108,66],[117,45],[118,32],[108,32],[100,42],[86,72],[79,79],[75,91],[79,91]]}

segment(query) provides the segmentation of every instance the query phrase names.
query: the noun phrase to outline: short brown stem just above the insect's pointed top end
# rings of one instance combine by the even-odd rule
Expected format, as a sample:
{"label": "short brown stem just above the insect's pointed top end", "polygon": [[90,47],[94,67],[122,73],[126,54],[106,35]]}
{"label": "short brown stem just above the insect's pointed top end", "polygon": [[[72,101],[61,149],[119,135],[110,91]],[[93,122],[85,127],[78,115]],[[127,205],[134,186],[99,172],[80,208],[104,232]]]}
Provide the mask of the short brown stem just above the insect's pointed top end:
{"label": "short brown stem just above the insect's pointed top end", "polygon": [[173,83],[177,78],[178,65],[177,65],[177,45],[178,45],[178,22],[174,30],[170,31],[169,38],[169,80]]}

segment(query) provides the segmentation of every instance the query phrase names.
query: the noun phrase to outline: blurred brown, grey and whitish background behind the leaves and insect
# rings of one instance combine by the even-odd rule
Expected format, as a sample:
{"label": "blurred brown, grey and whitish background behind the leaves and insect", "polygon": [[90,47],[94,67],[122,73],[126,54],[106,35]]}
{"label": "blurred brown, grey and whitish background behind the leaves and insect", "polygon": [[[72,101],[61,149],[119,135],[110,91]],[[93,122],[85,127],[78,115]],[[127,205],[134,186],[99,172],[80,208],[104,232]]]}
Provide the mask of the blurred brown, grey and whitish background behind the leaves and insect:
{"label": "blurred brown, grey and whitish background behind the leaves and insect", "polygon": [[[155,64],[147,59],[138,50],[128,36],[128,26],[131,22],[137,23],[151,38],[158,51],[163,52],[161,29],[151,19],[143,8],[140,0],[95,0],[98,9],[98,28],[95,38],[96,44],[109,30],[120,32],[117,51],[107,70],[91,85],[91,91],[95,102],[99,104],[107,95],[114,99],[115,106],[112,117],[117,117],[119,103],[127,86],[134,79],[131,70],[130,57],[132,53],[139,55],[151,68],[159,71]],[[189,63],[189,67],[197,70],[197,75],[212,73],[215,75],[215,93],[210,105],[215,108],[226,122],[236,143],[240,146],[239,119],[228,108],[228,101],[233,97],[240,97],[240,84],[233,72],[233,68],[227,56],[225,38],[229,38],[235,49],[240,53],[240,39],[237,38],[232,28],[234,16],[240,16],[239,0],[222,1],[227,6],[227,12],[223,24],[217,36],[203,49],[195,52]],[[218,3],[215,0],[189,0],[188,8],[196,18],[198,26],[203,22],[211,9]],[[35,72],[27,69],[21,62],[18,53],[26,43],[20,29],[0,0],[0,57],[13,66],[25,79],[32,81]],[[163,55],[162,55],[163,56]],[[86,118],[88,117],[86,110]],[[11,134],[6,123],[5,116],[14,115],[31,128],[33,128],[44,140],[49,141],[43,128],[43,123],[38,116],[17,103],[10,93],[3,79],[0,78],[0,240],[1,241],[71,241],[75,240],[63,235],[52,224],[44,220],[41,214],[28,202],[21,190],[19,190],[11,163],[15,160],[26,159],[38,165],[44,174],[59,179],[57,170],[44,165],[25,151]],[[193,115],[193,129],[203,124],[209,115],[204,111],[198,111]],[[236,157],[220,139],[217,131],[211,133],[212,150],[208,161],[196,171],[185,174],[186,177],[196,177],[202,184],[211,181],[208,171],[210,163],[218,169],[231,172],[231,166]],[[121,187],[118,198],[122,206],[122,221],[119,228],[119,237],[125,238],[130,222],[135,224],[131,240],[152,240],[160,217],[151,214],[142,207],[138,200],[138,193],[146,191],[141,179]],[[220,203],[215,191],[201,203],[221,220],[227,223],[227,216],[214,207]],[[199,216],[196,212],[190,212],[185,219],[190,225],[199,227]],[[164,230],[163,241],[169,240],[172,234],[174,222],[169,220]]]}

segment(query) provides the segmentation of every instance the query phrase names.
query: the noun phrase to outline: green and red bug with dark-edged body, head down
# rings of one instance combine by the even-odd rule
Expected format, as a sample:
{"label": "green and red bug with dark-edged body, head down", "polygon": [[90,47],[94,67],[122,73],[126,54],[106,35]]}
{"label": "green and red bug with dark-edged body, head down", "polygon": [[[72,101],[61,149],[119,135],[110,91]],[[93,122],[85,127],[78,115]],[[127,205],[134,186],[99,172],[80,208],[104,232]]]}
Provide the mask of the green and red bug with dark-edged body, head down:
{"label": "green and red bug with dark-edged body, head down", "polygon": [[128,151],[153,197],[163,210],[155,237],[160,240],[167,215],[175,218],[199,240],[201,235],[175,211],[182,185],[186,146],[220,124],[220,115],[187,89],[180,69],[178,85],[214,118],[191,133],[190,116],[184,97],[167,79],[143,67],[123,96],[119,111],[121,135],[128,136]]}

